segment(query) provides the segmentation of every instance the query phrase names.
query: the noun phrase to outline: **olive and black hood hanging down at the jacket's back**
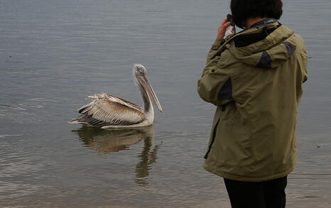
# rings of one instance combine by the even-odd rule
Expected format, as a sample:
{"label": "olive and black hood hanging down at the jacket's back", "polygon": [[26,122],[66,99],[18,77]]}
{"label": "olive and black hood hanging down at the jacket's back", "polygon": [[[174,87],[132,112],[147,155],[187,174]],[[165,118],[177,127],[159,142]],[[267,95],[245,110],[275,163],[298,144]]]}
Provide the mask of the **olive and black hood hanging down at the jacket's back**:
{"label": "olive and black hood hanging down at the jacket's back", "polygon": [[229,51],[248,65],[273,68],[291,57],[297,45],[295,39],[294,31],[276,22],[234,35]]}

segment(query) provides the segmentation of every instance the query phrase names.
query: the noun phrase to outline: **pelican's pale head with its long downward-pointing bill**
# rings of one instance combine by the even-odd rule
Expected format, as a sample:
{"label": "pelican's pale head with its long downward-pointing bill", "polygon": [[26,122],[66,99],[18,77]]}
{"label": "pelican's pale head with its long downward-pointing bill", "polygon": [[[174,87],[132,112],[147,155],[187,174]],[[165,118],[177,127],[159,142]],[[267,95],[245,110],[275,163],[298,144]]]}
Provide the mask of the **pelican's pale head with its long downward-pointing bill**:
{"label": "pelican's pale head with its long downward-pointing bill", "polygon": [[156,94],[147,79],[146,67],[144,67],[143,65],[140,65],[140,64],[134,65],[133,75],[134,75],[134,83],[138,86],[141,86],[142,90],[145,90],[147,92],[148,96],[156,104],[156,106],[158,107],[158,110],[163,112],[161,104],[160,104],[160,102],[158,102],[158,97],[156,97]]}

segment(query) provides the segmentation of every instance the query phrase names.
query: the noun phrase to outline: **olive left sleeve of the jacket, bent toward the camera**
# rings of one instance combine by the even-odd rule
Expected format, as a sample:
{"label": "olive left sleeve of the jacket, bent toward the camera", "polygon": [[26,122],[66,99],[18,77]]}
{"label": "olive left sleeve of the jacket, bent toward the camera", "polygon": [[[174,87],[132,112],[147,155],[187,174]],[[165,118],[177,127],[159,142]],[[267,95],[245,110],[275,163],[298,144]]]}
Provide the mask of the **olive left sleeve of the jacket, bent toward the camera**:
{"label": "olive left sleeve of the jacket, bent toward the camera", "polygon": [[197,93],[200,97],[205,102],[210,102],[217,106],[222,104],[222,100],[219,99],[219,91],[230,77],[229,70],[217,67],[220,57],[216,54],[221,44],[222,42],[216,40],[212,45],[207,55],[207,63],[202,71],[202,77],[197,81]]}

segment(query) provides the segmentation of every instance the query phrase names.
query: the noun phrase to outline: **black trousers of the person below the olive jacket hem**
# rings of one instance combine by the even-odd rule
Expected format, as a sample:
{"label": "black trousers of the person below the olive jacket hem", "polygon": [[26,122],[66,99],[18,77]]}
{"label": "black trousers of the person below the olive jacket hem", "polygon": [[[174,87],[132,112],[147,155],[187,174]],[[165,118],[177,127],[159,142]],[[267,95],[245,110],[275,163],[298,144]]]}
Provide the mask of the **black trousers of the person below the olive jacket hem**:
{"label": "black trousers of the person below the olive jacket hem", "polygon": [[264,182],[224,178],[232,208],[284,208],[287,176]]}

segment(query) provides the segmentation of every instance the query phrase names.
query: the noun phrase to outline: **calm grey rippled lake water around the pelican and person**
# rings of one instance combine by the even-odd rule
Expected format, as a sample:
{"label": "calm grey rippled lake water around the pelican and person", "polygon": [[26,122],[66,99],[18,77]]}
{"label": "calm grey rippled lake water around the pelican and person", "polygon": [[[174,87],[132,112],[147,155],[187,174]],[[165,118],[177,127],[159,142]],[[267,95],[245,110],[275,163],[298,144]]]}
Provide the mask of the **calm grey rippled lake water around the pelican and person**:
{"label": "calm grey rippled lake water around the pelican and person", "polygon": [[[331,207],[331,1],[284,1],[309,80],[288,207]],[[0,0],[1,207],[229,207],[202,170],[215,107],[196,93],[226,1]],[[141,104],[139,62],[163,106],[153,126],[67,124],[85,97]]]}

